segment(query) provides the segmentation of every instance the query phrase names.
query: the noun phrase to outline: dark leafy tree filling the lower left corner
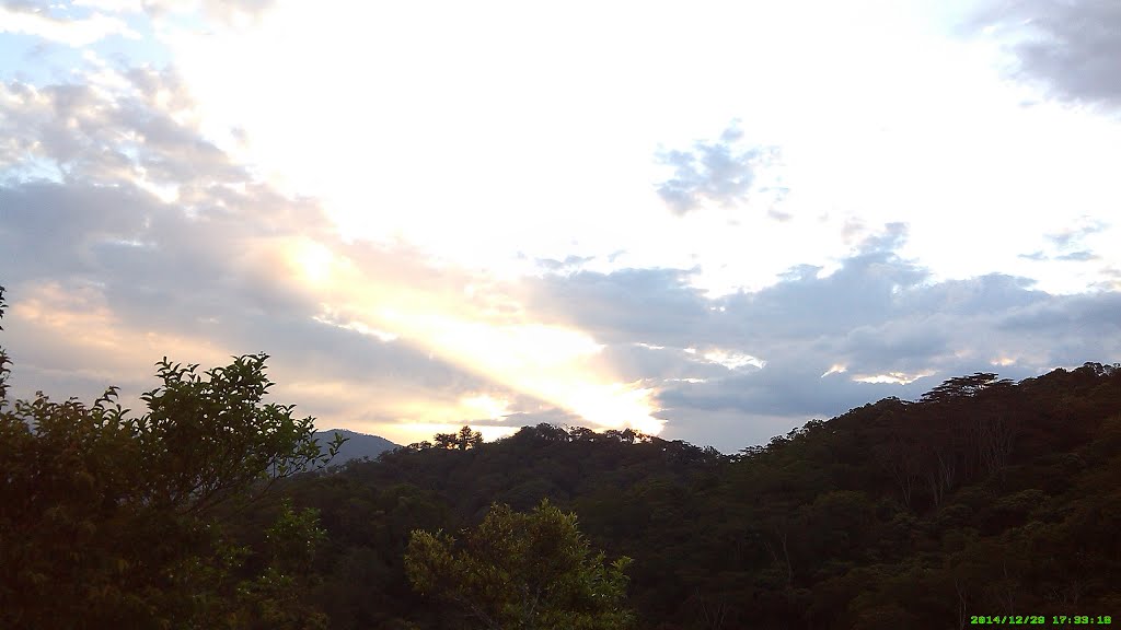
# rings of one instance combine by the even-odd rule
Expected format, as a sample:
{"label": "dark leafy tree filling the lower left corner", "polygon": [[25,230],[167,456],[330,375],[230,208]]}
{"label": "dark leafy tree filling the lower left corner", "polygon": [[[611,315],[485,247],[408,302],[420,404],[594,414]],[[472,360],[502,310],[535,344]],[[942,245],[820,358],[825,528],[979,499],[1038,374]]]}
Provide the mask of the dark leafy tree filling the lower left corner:
{"label": "dark leafy tree filling the lower left corner", "polygon": [[113,387],[92,406],[43,392],[0,401],[0,627],[229,626],[216,615],[249,550],[226,522],[343,441],[325,454],[314,418],[262,405],[266,359],[203,378],[165,358],[139,417]]}

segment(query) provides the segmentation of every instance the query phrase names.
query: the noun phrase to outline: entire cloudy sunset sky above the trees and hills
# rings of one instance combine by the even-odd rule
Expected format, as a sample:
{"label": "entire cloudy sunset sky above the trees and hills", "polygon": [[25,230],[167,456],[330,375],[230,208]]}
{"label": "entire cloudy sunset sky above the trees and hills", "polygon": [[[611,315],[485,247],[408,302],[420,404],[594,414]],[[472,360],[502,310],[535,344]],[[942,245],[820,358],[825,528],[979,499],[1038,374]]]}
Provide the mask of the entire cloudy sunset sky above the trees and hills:
{"label": "entire cloudy sunset sky above the trees and hills", "polygon": [[733,453],[1114,363],[1119,58],[1114,0],[0,0],[12,391],[266,352],[321,428]]}

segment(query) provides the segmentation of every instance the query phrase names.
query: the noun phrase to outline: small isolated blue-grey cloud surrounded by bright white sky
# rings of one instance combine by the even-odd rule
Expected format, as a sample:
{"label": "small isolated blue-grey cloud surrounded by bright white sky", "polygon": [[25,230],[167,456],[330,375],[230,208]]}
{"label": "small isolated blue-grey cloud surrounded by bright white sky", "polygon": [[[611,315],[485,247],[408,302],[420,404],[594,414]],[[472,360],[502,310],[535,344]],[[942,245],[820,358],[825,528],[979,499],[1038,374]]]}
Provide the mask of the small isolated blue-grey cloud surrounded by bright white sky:
{"label": "small isolated blue-grey cloud surrounded by bright white sky", "polygon": [[704,202],[735,205],[748,198],[761,164],[773,159],[777,149],[740,149],[742,133],[729,128],[719,140],[698,141],[692,150],[659,152],[657,159],[673,167],[674,175],[658,186],[658,194],[677,214],[696,210]]}

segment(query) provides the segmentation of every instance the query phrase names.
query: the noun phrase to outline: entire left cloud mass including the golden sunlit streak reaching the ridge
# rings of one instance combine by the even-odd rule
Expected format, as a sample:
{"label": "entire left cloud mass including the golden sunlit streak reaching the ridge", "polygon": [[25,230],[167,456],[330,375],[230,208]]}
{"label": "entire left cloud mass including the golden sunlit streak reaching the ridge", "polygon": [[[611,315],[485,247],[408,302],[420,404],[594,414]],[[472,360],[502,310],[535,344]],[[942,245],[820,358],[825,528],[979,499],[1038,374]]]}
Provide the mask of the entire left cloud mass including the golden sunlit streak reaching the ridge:
{"label": "entire left cloud mass including the golden sunlit streak reaching the ridge", "polygon": [[[173,73],[109,78],[0,90],[12,104],[0,132],[18,142],[17,175],[0,185],[0,249],[15,261],[4,281],[13,302],[48,305],[13,322],[25,332],[13,354],[33,369],[73,359],[81,370],[124,345],[102,372],[132,380],[150,371],[140,358],[156,342],[189,352],[205,341],[217,355],[268,350],[288,383],[278,393],[332,424],[390,423],[395,439],[392,423],[475,417],[465,400],[479,390],[517,392],[526,402],[515,411],[545,402],[593,425],[660,428],[646,390],[591,370],[600,345],[526,313],[517,287],[401,244],[344,241],[313,200],[277,193],[206,140]],[[36,161],[61,175],[19,175]],[[84,303],[57,299],[80,289]],[[80,322],[91,309],[86,336],[49,315]],[[87,346],[102,333],[109,345]],[[130,342],[138,335],[152,342]],[[37,350],[46,337],[66,343]],[[66,344],[84,350],[68,356]]]}

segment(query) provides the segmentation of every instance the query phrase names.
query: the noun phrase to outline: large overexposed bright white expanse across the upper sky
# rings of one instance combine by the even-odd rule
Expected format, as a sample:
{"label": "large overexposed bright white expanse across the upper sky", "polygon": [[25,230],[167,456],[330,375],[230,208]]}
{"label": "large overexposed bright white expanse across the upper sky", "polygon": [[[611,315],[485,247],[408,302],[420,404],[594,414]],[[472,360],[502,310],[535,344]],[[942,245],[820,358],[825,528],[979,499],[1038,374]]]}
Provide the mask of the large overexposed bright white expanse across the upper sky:
{"label": "large overexposed bright white expanse across the upper sky", "polygon": [[[691,282],[717,297],[794,265],[835,265],[854,220],[905,221],[906,254],[938,278],[1000,271],[1067,293],[1104,281],[1119,254],[1096,251],[1077,275],[1020,254],[1077,215],[1113,211],[1121,193],[1105,165],[1121,159],[1121,129],[1021,108],[1030,91],[1001,80],[1000,52],[939,38],[921,21],[935,12],[651,6],[636,28],[628,11],[580,2],[280,2],[252,28],[179,28],[168,41],[211,137],[243,127],[247,142],[226,148],[321,196],[348,235],[402,239],[452,265],[517,275],[531,271],[525,254],[591,257],[585,268],[603,271],[695,266]],[[658,147],[713,149],[678,165],[685,187],[664,193],[748,198],[754,170],[731,158],[750,151],[697,166],[723,155],[713,139],[732,120],[748,147],[781,151],[767,194],[749,196],[762,207],[674,216],[657,194]]]}

